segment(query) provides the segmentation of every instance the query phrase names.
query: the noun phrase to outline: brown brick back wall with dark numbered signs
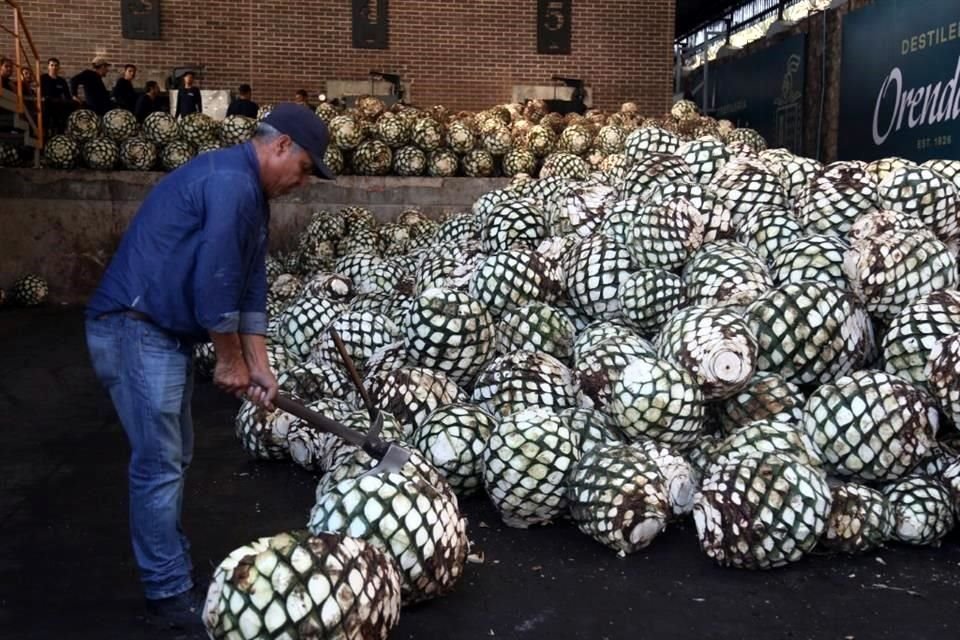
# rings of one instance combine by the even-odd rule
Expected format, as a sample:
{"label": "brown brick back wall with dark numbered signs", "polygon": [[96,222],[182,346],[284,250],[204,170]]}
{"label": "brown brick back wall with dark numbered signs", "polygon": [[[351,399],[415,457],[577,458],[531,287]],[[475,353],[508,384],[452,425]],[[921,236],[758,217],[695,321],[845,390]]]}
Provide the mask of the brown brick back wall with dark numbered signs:
{"label": "brown brick back wall with dark numbered signs", "polygon": [[[64,74],[93,54],[133,62],[138,80],[200,64],[203,86],[254,87],[261,102],[315,94],[326,79],[364,80],[399,71],[417,104],[479,109],[510,99],[513,84],[549,84],[553,74],[593,87],[594,104],[636,101],[660,114],[672,96],[675,0],[576,0],[572,54],[538,55],[531,0],[394,0],[390,48],[353,49],[348,0],[163,0],[161,41],[124,40],[115,0],[21,0],[42,56]],[[4,11],[8,11],[4,9]],[[0,14],[9,24],[8,14]],[[10,47],[9,38],[0,39]],[[111,77],[108,77],[108,81]]]}

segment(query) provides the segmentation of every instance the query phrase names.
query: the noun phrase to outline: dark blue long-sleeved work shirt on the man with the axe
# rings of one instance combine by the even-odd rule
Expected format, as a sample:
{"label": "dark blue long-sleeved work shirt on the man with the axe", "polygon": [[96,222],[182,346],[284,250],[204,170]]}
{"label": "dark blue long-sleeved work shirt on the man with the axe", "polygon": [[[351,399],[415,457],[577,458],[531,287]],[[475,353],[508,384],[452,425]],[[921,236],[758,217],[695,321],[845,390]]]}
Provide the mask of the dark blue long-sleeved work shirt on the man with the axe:
{"label": "dark blue long-sleeved work shirt on the man with the axe", "polygon": [[266,335],[269,222],[253,144],[201,154],[144,200],[87,317],[132,309],[191,341]]}

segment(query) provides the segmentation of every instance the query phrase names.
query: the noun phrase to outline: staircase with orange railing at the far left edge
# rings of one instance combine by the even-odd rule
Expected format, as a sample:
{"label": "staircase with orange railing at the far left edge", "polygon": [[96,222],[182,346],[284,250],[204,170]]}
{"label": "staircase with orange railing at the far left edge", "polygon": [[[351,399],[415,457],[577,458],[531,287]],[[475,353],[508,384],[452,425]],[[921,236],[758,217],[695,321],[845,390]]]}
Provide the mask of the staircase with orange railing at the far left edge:
{"label": "staircase with orange railing at the far left edge", "polygon": [[[43,104],[40,91],[40,54],[33,44],[30,31],[23,20],[20,5],[14,0],[2,0],[3,4],[12,9],[12,27],[4,24],[6,12],[0,16],[0,31],[13,36],[14,51],[14,90],[0,87],[0,142],[14,146],[22,146],[33,150],[33,165],[40,166],[40,154],[43,150],[44,131],[42,109],[36,109],[36,116],[27,108],[27,104]],[[0,34],[2,35],[2,34]],[[8,51],[3,38],[0,38],[0,50]],[[20,83],[20,69],[33,69],[36,89],[33,95],[24,95],[24,87]]]}

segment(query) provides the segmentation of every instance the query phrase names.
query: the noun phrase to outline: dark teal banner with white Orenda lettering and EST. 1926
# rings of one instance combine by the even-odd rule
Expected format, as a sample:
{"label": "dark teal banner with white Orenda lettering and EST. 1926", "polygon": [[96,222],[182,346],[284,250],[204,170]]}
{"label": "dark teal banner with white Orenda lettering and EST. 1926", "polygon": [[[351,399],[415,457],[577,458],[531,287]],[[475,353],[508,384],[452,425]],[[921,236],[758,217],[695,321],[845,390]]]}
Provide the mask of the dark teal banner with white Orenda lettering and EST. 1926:
{"label": "dark teal banner with white Orenda lettering and EST. 1926", "polygon": [[960,159],[960,0],[877,0],[843,19],[841,159]]}

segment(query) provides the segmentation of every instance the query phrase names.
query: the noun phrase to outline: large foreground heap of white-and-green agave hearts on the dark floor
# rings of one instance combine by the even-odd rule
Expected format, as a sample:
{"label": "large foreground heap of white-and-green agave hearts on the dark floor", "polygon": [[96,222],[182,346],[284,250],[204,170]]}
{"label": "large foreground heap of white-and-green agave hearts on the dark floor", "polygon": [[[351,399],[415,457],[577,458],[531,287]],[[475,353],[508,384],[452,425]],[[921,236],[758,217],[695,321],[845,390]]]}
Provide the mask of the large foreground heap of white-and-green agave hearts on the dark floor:
{"label": "large foreground heap of white-and-green agave hearts on the dark floor", "polygon": [[455,585],[457,500],[480,491],[507,525],[570,518],[622,555],[691,517],[745,569],[937,544],[960,506],[958,188],[960,162],[821,166],[650,126],[609,170],[440,221],[317,212],[268,260],[273,366],[366,428],[335,327],[414,456],[361,477],[361,451],[245,403],[244,449],[319,484],[308,533],[217,570],[211,635],[384,637]]}

